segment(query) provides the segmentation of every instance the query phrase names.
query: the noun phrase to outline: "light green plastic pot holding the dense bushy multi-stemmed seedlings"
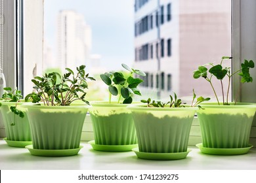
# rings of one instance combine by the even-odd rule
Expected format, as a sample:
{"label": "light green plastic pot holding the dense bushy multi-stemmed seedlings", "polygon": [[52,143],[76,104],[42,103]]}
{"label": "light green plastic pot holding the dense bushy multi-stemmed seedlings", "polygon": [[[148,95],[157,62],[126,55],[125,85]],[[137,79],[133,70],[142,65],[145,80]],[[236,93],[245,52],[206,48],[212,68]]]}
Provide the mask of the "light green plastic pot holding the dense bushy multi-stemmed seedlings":
{"label": "light green plastic pot holding the dense bushy multi-stemmed seedlings", "polygon": [[24,104],[32,131],[34,149],[79,148],[89,105],[44,106]]}

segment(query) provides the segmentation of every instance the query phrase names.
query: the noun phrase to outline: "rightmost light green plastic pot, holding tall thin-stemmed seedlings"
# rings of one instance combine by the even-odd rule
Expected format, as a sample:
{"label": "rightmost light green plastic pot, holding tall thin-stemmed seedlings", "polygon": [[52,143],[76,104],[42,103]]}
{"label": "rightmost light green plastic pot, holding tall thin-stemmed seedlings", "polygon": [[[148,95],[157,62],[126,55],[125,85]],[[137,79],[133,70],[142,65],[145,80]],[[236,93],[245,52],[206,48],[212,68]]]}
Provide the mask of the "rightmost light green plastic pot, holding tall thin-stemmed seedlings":
{"label": "rightmost light green plastic pot, holding tall thin-stemmed seedlings", "polygon": [[256,105],[202,103],[197,111],[205,148],[247,148]]}

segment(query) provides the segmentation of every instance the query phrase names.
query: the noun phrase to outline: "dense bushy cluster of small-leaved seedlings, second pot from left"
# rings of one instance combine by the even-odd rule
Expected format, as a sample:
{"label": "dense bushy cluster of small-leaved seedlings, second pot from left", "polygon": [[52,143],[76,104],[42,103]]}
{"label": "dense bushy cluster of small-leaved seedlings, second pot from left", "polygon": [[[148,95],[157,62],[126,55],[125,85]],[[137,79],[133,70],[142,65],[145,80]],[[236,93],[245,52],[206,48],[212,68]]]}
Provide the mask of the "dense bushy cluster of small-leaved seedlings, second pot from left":
{"label": "dense bushy cluster of small-leaved seedlings, second pot from left", "polygon": [[[76,68],[76,73],[72,69],[66,68],[67,73],[60,75],[53,72],[45,76],[36,76],[32,82],[36,92],[26,95],[25,101],[32,99],[33,103],[43,102],[47,106],[68,106],[76,100],[81,100],[89,105],[85,100],[85,89],[88,89],[87,79],[95,80],[85,73],[85,65]],[[57,82],[60,78],[60,82]]]}

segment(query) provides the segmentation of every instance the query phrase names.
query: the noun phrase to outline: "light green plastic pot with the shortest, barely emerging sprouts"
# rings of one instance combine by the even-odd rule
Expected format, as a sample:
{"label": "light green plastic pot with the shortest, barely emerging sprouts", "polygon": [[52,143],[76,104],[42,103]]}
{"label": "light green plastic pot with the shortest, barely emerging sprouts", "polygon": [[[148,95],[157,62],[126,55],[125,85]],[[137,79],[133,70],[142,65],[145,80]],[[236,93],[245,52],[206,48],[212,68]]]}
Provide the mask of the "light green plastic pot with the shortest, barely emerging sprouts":
{"label": "light green plastic pot with the shortest, barely emerging sprouts", "polygon": [[158,108],[131,105],[140,152],[186,152],[197,107]]}

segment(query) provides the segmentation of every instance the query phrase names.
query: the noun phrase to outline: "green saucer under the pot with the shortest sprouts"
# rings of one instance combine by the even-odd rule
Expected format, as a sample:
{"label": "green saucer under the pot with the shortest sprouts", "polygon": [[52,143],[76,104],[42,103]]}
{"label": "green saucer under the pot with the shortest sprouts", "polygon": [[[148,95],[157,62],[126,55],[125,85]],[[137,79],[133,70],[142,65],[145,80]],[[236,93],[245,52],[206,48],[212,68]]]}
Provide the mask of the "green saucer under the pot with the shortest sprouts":
{"label": "green saucer under the pot with the shortest sprouts", "polygon": [[139,152],[139,148],[133,148],[138,158],[152,159],[152,160],[175,160],[186,158],[191,149],[186,152],[173,152],[173,153],[154,153],[154,152]]}

